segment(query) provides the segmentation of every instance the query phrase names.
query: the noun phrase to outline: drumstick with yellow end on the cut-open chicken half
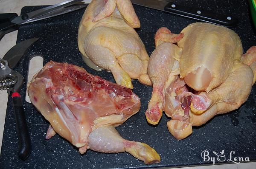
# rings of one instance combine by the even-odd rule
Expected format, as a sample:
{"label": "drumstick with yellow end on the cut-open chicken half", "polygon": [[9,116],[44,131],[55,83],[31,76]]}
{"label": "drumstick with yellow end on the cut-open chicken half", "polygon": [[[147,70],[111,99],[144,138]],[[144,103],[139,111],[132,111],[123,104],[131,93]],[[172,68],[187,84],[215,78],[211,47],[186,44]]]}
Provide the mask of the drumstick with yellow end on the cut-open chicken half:
{"label": "drumstick with yellow end on the cut-open chicken half", "polygon": [[100,127],[90,133],[88,148],[106,153],[128,152],[146,164],[160,162],[160,156],[148,144],[125,140],[113,126]]}

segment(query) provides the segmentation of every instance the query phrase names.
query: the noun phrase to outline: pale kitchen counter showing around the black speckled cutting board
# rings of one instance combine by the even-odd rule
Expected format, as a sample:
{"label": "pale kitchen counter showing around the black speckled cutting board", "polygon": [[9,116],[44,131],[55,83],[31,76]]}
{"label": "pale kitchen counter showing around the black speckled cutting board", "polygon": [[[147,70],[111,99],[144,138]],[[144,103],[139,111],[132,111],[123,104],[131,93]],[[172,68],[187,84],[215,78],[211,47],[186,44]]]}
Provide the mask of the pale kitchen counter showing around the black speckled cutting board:
{"label": "pale kitchen counter showing around the black speckled cutting board", "polygon": [[[0,0],[0,13],[17,13],[20,14],[20,10],[23,6],[38,6],[38,5],[52,5],[60,3],[63,0]],[[3,58],[4,54],[16,44],[17,31],[6,34],[0,41],[0,57]],[[8,96],[6,91],[0,91],[0,149],[2,145],[3,128],[6,115],[6,104]],[[3,104],[4,103],[4,104]],[[186,169],[251,169],[256,166],[256,162],[240,163],[240,164],[224,164],[217,166],[196,166],[186,167]]]}

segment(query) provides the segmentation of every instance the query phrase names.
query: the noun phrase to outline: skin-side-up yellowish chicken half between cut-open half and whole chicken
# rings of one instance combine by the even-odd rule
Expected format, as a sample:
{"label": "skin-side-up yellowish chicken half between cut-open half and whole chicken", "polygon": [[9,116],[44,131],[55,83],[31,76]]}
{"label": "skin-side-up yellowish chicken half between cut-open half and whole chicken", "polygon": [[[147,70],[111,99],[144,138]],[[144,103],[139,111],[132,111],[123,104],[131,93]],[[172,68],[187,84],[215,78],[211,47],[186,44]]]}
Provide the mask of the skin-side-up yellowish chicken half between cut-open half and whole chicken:
{"label": "skin-side-up yellowish chicken half between cut-open half and whole chicken", "polygon": [[78,31],[84,61],[95,70],[111,71],[119,85],[132,89],[131,79],[151,85],[147,74],[149,57],[134,30],[139,27],[130,0],[92,0]]}

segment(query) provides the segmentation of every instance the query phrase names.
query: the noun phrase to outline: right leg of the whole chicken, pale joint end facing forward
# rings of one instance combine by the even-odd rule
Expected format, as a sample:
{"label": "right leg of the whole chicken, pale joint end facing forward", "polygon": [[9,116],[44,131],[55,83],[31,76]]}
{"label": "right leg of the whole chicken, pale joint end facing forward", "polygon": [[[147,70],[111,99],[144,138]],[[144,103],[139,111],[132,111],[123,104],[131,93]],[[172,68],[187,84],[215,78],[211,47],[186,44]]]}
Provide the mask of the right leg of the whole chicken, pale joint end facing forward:
{"label": "right leg of the whole chicken, pale joint end facing forward", "polygon": [[[255,75],[253,75],[249,66],[237,62],[230,76],[219,87],[209,93],[200,93],[199,96],[203,95],[204,98],[200,101],[197,99],[198,96],[192,99],[191,113],[189,113],[192,125],[200,126],[217,114],[224,114],[239,108],[250,94],[253,76]],[[209,106],[205,103],[205,100],[208,101]],[[207,110],[198,115],[197,107],[200,104],[207,105],[205,106]]]}

